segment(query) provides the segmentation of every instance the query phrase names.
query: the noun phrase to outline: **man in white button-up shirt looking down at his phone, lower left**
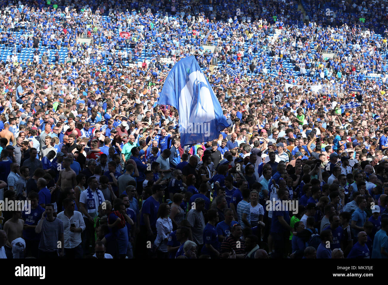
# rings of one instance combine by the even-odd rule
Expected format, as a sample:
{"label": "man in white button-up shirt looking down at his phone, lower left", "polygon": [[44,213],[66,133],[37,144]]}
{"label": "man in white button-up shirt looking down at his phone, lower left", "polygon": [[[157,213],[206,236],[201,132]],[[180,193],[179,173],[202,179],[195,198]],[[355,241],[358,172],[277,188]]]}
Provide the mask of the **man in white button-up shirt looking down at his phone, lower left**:
{"label": "man in white button-up shirt looking down at his phone, lower left", "polygon": [[62,202],[64,211],[57,215],[64,226],[64,257],[82,258],[82,240],[81,232],[85,230],[86,225],[83,221],[81,212],[74,211],[74,199],[68,197]]}

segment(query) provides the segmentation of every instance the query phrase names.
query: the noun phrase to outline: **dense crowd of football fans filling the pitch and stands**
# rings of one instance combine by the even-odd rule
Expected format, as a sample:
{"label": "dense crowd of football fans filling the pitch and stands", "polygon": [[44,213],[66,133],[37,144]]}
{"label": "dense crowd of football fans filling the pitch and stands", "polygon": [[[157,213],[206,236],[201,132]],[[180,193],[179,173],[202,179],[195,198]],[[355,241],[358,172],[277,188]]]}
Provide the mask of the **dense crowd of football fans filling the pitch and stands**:
{"label": "dense crowd of football fans filling the pitch and stands", "polygon": [[[385,2],[97,2],[0,6],[0,258],[388,257]],[[191,55],[231,124],[181,145]]]}

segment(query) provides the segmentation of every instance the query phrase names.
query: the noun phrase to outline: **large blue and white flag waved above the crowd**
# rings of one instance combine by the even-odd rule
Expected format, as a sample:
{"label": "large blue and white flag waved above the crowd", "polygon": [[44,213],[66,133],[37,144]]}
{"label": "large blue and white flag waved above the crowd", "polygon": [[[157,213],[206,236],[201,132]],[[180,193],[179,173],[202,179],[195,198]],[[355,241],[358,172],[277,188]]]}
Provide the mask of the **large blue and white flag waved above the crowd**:
{"label": "large blue and white flag waved above the crowd", "polygon": [[182,146],[214,140],[229,126],[194,56],[179,60],[171,69],[158,103],[178,109]]}

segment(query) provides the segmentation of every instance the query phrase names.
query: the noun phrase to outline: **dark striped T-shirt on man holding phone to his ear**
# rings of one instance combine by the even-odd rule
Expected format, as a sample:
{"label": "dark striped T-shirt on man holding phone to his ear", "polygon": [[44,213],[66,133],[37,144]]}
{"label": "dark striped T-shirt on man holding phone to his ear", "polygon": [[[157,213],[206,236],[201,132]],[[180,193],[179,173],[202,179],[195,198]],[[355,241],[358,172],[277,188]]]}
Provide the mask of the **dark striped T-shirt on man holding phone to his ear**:
{"label": "dark striped T-shirt on man holding phone to his ear", "polygon": [[[38,224],[40,223],[40,220]],[[64,232],[63,222],[59,218],[54,221],[43,220],[38,249],[45,252],[58,250],[59,235]]]}

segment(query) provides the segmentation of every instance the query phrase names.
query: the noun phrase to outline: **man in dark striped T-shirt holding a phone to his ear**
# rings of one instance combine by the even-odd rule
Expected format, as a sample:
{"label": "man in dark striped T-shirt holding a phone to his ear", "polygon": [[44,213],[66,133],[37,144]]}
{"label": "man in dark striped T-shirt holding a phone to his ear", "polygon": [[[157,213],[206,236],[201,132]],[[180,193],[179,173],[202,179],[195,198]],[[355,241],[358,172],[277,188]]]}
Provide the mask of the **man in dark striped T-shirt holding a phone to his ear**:
{"label": "man in dark striped T-shirt holding a phone to his ear", "polygon": [[[54,205],[46,204],[35,233],[40,235],[38,258],[58,258],[64,256],[64,226],[59,218],[55,218]],[[58,249],[60,250],[58,255]]]}

